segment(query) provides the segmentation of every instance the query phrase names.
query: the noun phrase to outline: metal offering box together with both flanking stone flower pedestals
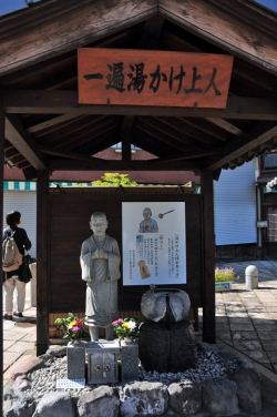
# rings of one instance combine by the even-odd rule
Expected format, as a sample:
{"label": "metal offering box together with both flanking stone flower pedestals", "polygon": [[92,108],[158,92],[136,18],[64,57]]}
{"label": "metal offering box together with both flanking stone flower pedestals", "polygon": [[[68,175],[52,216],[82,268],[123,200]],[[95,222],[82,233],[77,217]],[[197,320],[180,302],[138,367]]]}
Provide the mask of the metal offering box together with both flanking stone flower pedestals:
{"label": "metal offering box together with both flanking stone flower pedestals", "polygon": [[[85,379],[85,368],[76,364],[85,363],[88,356],[88,384],[113,384],[120,379],[125,383],[138,377],[138,344],[133,342],[90,342],[68,347],[69,379]],[[74,352],[73,352],[74,350]],[[121,373],[119,364],[121,363]],[[120,378],[121,376],[121,378]]]}

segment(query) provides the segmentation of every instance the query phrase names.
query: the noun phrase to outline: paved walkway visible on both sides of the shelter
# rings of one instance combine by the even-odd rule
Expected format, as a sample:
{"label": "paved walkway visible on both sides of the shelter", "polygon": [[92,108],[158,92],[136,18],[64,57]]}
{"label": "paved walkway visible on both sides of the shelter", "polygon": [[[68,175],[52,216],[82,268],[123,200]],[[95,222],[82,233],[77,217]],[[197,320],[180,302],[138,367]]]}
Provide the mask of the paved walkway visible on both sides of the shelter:
{"label": "paved walkway visible on both sides of the shelter", "polygon": [[[258,289],[247,289],[245,268],[255,265],[259,272]],[[263,398],[266,410],[253,416],[277,416],[277,261],[220,261],[218,267],[233,267],[238,279],[232,291],[216,293],[217,345],[250,360],[264,376]],[[19,360],[35,355],[35,307],[30,305],[27,286],[24,318],[3,321],[3,386],[9,369]],[[199,311],[199,327],[202,312]],[[201,338],[201,330],[197,333]]]}

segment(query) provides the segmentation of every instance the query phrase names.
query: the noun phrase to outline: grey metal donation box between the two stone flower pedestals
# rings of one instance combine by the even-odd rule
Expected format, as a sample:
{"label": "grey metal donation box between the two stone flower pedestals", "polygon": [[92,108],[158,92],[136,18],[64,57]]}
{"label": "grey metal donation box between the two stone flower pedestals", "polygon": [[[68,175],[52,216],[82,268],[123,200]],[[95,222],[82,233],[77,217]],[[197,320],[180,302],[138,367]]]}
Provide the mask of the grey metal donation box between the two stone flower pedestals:
{"label": "grey metal donation box between the two stone flower pedestals", "polygon": [[117,340],[90,342],[86,344],[88,384],[111,384],[119,382]]}

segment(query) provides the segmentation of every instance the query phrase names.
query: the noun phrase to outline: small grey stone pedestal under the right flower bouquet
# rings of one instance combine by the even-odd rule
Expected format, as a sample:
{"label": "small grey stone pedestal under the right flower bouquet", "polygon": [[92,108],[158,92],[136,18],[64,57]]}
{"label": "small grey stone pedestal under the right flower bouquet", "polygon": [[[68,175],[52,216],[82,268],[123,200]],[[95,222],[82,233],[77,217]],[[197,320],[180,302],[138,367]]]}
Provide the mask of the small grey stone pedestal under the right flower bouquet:
{"label": "small grey stone pedestal under the right flower bouquet", "polygon": [[121,382],[138,379],[138,343],[121,343]]}

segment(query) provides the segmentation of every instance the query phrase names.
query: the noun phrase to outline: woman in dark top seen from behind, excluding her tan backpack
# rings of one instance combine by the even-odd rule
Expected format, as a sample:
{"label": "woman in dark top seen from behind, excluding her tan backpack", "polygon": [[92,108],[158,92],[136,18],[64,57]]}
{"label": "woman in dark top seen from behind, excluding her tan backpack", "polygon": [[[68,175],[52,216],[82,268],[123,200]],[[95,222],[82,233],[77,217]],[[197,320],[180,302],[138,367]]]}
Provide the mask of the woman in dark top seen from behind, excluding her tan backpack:
{"label": "woman in dark top seen from behind, excluding her tan backpack", "polygon": [[[9,227],[3,230],[2,242],[11,236],[14,238],[19,252],[24,255],[24,251],[29,251],[32,246],[24,228],[19,227],[22,224],[21,214],[17,211],[10,212],[6,216],[6,223]],[[25,304],[25,266],[20,265],[16,271],[3,271],[4,287],[4,316],[3,318],[12,321],[12,314],[17,317],[23,317],[22,312]],[[13,292],[17,288],[18,309],[12,312]]]}

